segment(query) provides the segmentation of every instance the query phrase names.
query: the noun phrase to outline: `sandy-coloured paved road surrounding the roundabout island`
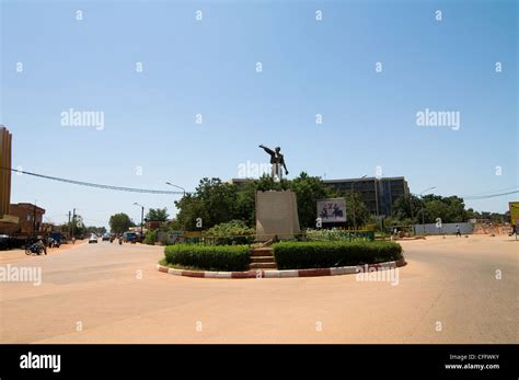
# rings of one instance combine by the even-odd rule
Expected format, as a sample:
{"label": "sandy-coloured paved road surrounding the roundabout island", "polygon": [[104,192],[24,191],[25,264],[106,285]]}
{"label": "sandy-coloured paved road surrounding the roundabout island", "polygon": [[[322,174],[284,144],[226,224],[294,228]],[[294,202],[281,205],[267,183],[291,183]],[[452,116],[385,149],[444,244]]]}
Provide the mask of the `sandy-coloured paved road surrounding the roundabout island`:
{"label": "sandy-coloured paved road surrounding the roundabout island", "polygon": [[[402,243],[399,285],[355,275],[200,279],[159,273],[157,246],[0,252],[43,283],[0,283],[2,343],[518,343],[507,237]],[[496,270],[501,279],[496,279]],[[441,331],[437,331],[441,323]]]}

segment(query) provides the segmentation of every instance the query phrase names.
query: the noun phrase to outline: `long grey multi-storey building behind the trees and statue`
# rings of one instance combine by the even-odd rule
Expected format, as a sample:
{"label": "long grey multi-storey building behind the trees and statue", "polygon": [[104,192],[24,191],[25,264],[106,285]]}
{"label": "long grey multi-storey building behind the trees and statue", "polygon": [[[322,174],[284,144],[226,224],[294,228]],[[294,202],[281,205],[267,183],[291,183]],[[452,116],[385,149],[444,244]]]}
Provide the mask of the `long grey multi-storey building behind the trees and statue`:
{"label": "long grey multi-storey building behind the trees and statue", "polygon": [[[251,179],[232,179],[229,183],[243,185]],[[368,207],[371,215],[390,216],[393,203],[404,194],[410,194],[407,181],[403,176],[364,177],[345,180],[323,180],[337,192],[355,192]]]}

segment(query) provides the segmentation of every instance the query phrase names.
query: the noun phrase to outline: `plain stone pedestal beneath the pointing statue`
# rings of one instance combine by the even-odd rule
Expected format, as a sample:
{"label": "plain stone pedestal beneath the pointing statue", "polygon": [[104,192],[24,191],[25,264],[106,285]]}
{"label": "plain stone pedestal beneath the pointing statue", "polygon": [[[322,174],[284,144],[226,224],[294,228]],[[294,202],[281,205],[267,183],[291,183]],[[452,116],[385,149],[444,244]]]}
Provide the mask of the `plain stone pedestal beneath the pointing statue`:
{"label": "plain stone pedestal beneath the pointing statue", "polygon": [[299,231],[295,193],[291,191],[256,192],[257,241],[267,241],[274,235],[280,240],[293,239]]}

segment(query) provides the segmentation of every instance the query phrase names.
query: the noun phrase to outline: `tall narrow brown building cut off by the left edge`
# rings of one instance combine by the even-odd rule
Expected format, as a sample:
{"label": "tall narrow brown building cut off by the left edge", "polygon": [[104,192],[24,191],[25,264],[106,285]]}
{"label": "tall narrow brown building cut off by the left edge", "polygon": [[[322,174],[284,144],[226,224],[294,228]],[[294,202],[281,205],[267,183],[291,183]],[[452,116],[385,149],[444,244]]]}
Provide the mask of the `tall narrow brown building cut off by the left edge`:
{"label": "tall narrow brown building cut off by the left edge", "polygon": [[18,218],[10,214],[11,205],[11,143],[8,128],[0,126],[0,233],[16,229]]}

